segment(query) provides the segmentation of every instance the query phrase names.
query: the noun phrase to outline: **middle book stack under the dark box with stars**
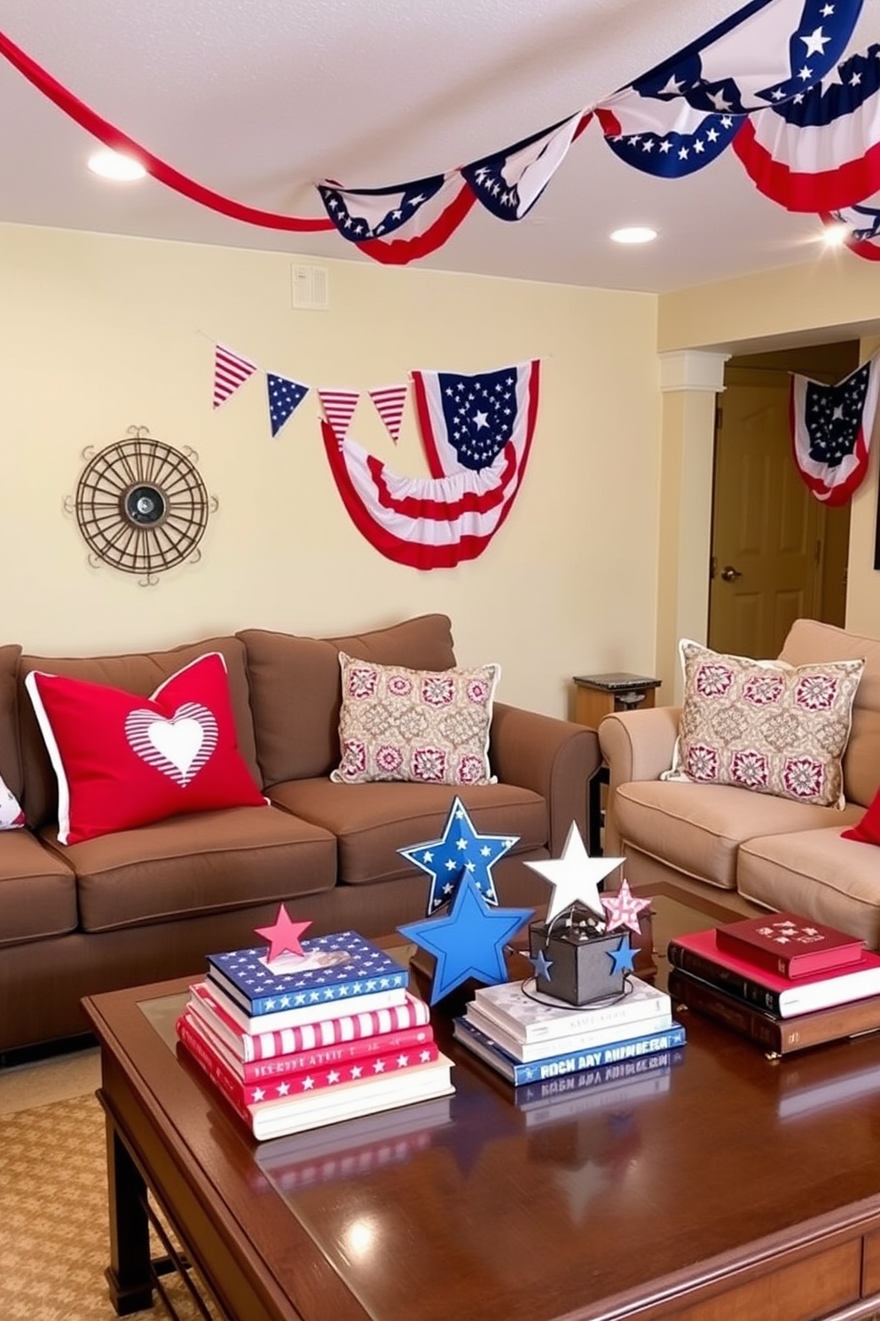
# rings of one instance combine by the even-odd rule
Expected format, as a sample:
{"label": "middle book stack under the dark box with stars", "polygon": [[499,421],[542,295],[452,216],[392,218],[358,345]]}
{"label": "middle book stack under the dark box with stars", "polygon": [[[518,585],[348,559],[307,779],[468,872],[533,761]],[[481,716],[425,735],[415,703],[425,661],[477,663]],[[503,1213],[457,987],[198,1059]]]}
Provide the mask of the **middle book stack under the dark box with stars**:
{"label": "middle book stack under the dark box with stars", "polygon": [[529,983],[478,987],[453,1032],[515,1087],[674,1050],[685,1029],[665,991],[629,978],[612,1001],[573,1008]]}

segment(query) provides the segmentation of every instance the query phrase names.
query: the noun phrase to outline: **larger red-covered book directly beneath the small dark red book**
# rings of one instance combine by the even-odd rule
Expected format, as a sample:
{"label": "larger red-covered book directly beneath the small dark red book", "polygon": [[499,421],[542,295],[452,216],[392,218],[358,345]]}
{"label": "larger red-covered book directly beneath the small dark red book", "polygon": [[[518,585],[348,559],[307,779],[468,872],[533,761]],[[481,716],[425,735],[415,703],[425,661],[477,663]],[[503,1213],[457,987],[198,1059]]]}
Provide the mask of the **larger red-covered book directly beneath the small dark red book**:
{"label": "larger red-covered book directly beneath the small dark red book", "polygon": [[863,950],[858,963],[805,978],[780,978],[747,959],[719,950],[715,929],[676,935],[669,942],[669,962],[712,985],[757,1004],[781,1018],[813,1009],[827,1009],[850,1000],[880,993],[880,955]]}

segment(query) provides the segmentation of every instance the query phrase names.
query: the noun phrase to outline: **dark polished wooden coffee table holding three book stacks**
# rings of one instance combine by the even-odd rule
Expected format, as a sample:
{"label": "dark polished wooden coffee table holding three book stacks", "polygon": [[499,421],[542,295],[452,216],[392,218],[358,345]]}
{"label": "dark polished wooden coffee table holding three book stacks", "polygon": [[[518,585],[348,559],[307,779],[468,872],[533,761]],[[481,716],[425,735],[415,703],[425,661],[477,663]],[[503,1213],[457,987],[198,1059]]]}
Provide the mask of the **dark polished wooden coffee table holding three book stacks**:
{"label": "dark polished wooden coffee table holding three book stacks", "polygon": [[[673,886],[654,906],[661,948],[732,917]],[[879,1036],[772,1062],[687,1015],[678,1062],[595,1090],[563,1078],[529,1107],[447,1042],[454,1096],[372,1133],[256,1144],[175,1053],[185,999],[174,982],[84,1001],[120,1314],[152,1299],[146,1189],[235,1321],[880,1313]]]}

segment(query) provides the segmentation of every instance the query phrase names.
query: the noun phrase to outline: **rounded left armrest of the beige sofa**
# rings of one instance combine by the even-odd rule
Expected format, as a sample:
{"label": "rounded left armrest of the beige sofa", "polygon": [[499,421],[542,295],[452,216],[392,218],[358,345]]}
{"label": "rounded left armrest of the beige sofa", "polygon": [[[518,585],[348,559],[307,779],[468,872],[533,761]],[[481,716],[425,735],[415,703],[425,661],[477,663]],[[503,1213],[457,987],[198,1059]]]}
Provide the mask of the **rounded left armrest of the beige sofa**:
{"label": "rounded left armrest of the beige sofa", "polygon": [[608,766],[608,799],[603,852],[620,855],[620,834],[615,820],[615,794],[633,779],[657,779],[673,764],[681,707],[645,707],[643,711],[615,711],[599,725],[599,746]]}

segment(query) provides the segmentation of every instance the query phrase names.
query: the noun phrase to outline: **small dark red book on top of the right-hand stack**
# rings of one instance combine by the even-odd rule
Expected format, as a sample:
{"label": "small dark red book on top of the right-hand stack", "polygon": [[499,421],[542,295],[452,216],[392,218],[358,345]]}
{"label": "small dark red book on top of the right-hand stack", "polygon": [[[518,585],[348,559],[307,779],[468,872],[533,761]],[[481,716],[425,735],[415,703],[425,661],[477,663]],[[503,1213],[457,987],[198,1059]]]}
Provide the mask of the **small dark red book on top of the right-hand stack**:
{"label": "small dark red book on top of the right-hand stack", "polygon": [[767,913],[719,926],[719,950],[727,950],[781,978],[805,978],[858,963],[864,941],[797,913]]}

